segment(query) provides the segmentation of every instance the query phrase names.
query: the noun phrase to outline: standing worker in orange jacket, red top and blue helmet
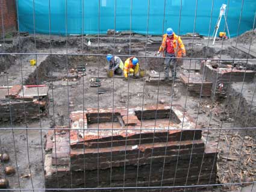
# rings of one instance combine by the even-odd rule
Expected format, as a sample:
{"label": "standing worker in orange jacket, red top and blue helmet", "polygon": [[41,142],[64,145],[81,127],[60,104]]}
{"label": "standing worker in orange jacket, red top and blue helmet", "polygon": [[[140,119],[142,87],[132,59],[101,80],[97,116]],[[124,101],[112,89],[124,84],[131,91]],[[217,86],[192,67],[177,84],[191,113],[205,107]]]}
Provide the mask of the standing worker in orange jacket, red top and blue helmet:
{"label": "standing worker in orange jacket, red top and blue helmet", "polygon": [[[178,48],[177,48],[178,44]],[[164,58],[164,79],[169,79],[169,67],[172,70],[173,80],[176,78],[176,59],[172,57],[185,57],[186,50],[180,36],[176,36],[172,28],[167,28],[166,34],[163,35],[163,41],[157,52],[157,55],[163,52]]]}

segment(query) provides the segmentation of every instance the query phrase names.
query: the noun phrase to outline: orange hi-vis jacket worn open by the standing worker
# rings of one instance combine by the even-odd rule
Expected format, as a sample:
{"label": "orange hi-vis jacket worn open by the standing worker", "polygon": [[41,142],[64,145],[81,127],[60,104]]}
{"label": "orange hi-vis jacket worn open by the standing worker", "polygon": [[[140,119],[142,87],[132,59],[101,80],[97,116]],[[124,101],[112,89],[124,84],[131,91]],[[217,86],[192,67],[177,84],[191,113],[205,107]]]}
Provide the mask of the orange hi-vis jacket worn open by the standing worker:
{"label": "orange hi-vis jacket worn open by the standing worker", "polygon": [[[159,52],[163,52],[163,56],[164,56],[164,51],[166,50],[166,39],[167,39],[167,34],[164,34],[162,44],[159,48]],[[178,49],[177,49],[177,44],[178,44]],[[173,33],[173,48],[174,48],[176,57],[182,57],[182,54],[186,54],[185,46],[183,44],[183,41],[181,40],[181,37],[177,36],[175,33]]]}

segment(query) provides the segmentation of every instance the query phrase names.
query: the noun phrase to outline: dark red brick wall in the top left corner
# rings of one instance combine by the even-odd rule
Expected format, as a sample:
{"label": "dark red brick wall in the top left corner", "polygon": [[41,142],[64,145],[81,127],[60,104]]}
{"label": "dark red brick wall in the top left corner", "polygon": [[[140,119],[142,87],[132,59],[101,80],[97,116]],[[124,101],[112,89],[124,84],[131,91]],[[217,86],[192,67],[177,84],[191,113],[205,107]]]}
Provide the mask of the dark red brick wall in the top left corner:
{"label": "dark red brick wall in the top left corner", "polygon": [[2,16],[4,22],[4,33],[16,30],[16,3],[15,0],[0,0],[0,34],[2,34]]}

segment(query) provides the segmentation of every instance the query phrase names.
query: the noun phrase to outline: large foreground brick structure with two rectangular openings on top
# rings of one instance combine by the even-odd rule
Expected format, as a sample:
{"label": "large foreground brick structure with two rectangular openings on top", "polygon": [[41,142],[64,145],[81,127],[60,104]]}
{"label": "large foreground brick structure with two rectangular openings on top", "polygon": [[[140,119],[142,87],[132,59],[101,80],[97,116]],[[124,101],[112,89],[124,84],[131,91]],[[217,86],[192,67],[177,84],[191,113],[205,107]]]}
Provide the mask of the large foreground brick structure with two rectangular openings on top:
{"label": "large foreground brick structure with two rectangular openings on top", "polygon": [[205,146],[201,130],[191,130],[196,125],[183,111],[180,105],[153,105],[143,113],[142,107],[72,112],[70,131],[56,127],[48,132],[46,188],[123,187],[124,166],[125,187],[135,187],[138,159],[137,187],[160,186],[164,158],[163,185],[213,184],[216,147]]}

